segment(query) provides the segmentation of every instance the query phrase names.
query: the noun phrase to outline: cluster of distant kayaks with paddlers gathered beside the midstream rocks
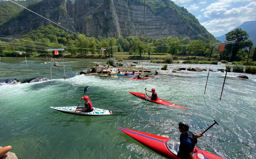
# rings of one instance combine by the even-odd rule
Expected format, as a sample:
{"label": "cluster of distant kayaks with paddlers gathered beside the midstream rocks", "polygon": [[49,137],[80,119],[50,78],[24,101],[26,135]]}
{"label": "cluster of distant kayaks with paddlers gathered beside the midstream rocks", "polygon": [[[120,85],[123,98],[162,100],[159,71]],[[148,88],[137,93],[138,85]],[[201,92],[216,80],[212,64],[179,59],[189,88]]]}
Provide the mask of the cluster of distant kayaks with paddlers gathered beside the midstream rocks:
{"label": "cluster of distant kayaks with paddlers gathered beside the midstream rocks", "polygon": [[154,74],[146,74],[145,76],[142,76],[142,74],[139,73],[135,73],[134,70],[132,70],[132,72],[127,72],[128,70],[126,70],[125,72],[120,71],[120,68],[118,68],[117,72],[111,73],[109,71],[107,71],[106,75],[98,75],[98,76],[102,76],[102,77],[117,77],[117,76],[136,76],[133,77],[131,79],[127,79],[127,80],[143,80],[143,79],[149,79],[149,78],[153,78],[153,77],[149,77],[149,75],[158,75],[157,70],[155,70]]}

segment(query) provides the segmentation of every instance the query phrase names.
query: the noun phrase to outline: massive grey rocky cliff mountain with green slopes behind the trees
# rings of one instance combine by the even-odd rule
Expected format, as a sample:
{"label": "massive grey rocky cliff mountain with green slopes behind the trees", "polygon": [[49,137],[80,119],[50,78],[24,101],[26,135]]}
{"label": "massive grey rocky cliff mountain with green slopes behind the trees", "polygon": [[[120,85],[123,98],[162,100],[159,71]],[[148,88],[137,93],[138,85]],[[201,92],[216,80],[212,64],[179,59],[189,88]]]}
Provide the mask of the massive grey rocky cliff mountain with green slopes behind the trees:
{"label": "massive grey rocky cliff mountain with green slopes behind the trees", "polygon": [[[143,0],[42,0],[30,10],[72,32],[87,36],[127,37],[144,35]],[[1,15],[0,15],[1,17]],[[0,34],[19,37],[50,21],[23,10],[17,17],[0,25]],[[55,25],[55,24],[53,24]],[[170,0],[149,0],[145,6],[145,36],[196,36],[208,33],[194,15]],[[206,34],[195,39],[214,39]]]}

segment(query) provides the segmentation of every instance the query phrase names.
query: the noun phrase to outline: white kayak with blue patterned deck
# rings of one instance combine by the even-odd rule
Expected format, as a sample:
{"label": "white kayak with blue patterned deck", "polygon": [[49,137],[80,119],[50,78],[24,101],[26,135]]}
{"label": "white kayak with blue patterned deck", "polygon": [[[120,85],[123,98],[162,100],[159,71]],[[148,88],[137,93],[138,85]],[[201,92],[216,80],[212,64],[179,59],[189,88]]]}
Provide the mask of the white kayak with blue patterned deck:
{"label": "white kayak with blue patterned deck", "polygon": [[[69,106],[69,107],[50,107],[52,109],[58,110],[63,113],[70,113],[74,114],[76,111],[76,106]],[[83,106],[78,107],[79,109],[85,108]],[[126,113],[126,112],[115,112],[112,110],[105,110],[105,109],[100,109],[100,108],[94,108],[91,112],[80,112],[76,111],[75,115],[112,115],[112,114],[118,114],[118,113]]]}

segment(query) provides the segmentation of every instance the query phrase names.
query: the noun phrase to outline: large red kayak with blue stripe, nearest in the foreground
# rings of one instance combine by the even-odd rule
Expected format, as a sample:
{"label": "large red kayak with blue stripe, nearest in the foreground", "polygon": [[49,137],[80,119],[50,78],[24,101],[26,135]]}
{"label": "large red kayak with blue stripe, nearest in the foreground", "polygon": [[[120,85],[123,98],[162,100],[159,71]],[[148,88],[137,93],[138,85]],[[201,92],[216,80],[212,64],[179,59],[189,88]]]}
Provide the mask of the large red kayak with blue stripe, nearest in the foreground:
{"label": "large red kayak with blue stripe, nearest in the foreground", "polygon": [[[177,152],[179,150],[178,140],[121,127],[118,127],[118,129],[163,156],[173,159],[181,159],[177,156]],[[194,148],[193,157],[194,159],[223,159],[222,157],[219,157],[197,147]]]}

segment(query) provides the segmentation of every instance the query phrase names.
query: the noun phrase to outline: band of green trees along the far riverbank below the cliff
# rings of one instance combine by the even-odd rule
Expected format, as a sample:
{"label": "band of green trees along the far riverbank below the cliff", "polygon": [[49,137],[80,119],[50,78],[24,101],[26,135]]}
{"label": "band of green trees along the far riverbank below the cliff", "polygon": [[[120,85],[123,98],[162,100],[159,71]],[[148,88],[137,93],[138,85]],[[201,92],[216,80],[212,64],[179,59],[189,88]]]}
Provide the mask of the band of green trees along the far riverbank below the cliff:
{"label": "band of green trees along the far riverbank below the cliff", "polygon": [[[153,39],[151,37],[128,36],[126,38],[103,38],[102,36],[87,37],[85,34],[69,34],[53,25],[40,27],[30,33],[23,35],[20,39],[13,38],[0,39],[0,56],[16,56],[15,51],[27,52],[28,56],[37,52],[41,56],[49,53],[47,49],[64,48],[65,53],[70,53],[72,57],[112,57],[114,52],[128,52],[131,56],[144,56],[156,54],[170,54],[193,56],[209,56],[219,60],[245,61],[250,55],[250,59],[255,59],[255,47],[253,42],[248,40],[246,31],[236,29],[226,34],[227,41],[236,40],[234,44],[227,44],[223,52],[219,51],[219,46],[212,46],[218,43],[216,40],[191,40],[188,37],[173,38],[163,37]],[[104,54],[101,48],[105,48]],[[251,52],[251,53],[250,53]],[[63,53],[63,52],[61,52]]]}

